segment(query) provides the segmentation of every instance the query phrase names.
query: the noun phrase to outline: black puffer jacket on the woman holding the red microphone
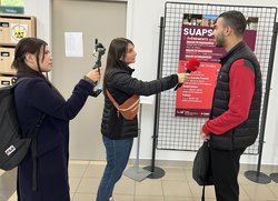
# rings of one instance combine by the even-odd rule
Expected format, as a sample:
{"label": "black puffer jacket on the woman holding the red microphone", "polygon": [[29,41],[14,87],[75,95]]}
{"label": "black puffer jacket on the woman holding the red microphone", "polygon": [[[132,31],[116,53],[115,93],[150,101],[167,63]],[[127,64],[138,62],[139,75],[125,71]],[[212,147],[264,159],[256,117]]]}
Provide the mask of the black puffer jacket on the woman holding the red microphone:
{"label": "black puffer jacket on the woman holding the red microphone", "polygon": [[[152,81],[141,81],[132,78],[133,70],[127,64],[116,66],[106,76],[106,89],[121,104],[132,94],[151,96],[169,90],[178,83],[178,76],[171,74]],[[101,121],[101,133],[109,139],[126,139],[138,135],[137,117],[126,120],[118,115],[117,109],[105,94],[105,108]]]}

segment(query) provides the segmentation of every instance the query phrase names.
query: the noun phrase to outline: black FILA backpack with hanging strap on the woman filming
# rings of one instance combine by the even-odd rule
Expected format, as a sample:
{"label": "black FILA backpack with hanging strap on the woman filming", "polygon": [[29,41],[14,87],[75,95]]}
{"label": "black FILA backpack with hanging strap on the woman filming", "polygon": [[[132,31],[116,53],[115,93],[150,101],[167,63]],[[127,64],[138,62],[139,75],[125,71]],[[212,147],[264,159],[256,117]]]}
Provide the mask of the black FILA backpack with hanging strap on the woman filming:
{"label": "black FILA backpack with hanging strap on the woman filming", "polygon": [[0,88],[0,169],[11,170],[20,164],[30,145],[33,159],[33,190],[37,190],[37,133],[46,117],[42,114],[28,138],[22,138],[14,104],[16,84]]}

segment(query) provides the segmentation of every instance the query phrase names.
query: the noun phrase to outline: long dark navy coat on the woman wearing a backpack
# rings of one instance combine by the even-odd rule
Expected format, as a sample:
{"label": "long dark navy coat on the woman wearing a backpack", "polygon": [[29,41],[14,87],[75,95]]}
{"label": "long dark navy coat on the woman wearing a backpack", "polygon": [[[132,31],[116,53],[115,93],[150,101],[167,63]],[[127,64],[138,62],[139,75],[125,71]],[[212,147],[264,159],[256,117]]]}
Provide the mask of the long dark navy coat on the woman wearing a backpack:
{"label": "long dark navy coat on the woman wearing a backpack", "polygon": [[83,107],[92,84],[80,80],[66,101],[42,78],[23,80],[16,88],[19,123],[26,137],[42,113],[46,118],[38,139],[38,190],[32,191],[32,159],[29,150],[18,168],[20,201],[69,201],[69,120]]}

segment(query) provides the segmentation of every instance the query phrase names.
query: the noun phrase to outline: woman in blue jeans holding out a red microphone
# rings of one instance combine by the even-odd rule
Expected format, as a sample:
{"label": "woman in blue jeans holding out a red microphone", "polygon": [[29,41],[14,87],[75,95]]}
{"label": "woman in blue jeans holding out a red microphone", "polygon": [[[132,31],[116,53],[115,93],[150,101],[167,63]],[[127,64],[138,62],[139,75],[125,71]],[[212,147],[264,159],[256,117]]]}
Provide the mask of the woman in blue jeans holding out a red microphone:
{"label": "woman in blue jeans holding out a red microphone", "polygon": [[110,92],[118,104],[122,104],[133,94],[151,96],[183,83],[188,73],[178,73],[152,81],[132,78],[135,71],[129,67],[136,60],[133,43],[125,38],[113,39],[107,57],[103,80],[105,108],[102,113],[101,133],[106,147],[107,165],[98,189],[97,201],[111,201],[113,187],[119,181],[128,163],[133,138],[138,135],[137,115],[126,120],[106,94]]}

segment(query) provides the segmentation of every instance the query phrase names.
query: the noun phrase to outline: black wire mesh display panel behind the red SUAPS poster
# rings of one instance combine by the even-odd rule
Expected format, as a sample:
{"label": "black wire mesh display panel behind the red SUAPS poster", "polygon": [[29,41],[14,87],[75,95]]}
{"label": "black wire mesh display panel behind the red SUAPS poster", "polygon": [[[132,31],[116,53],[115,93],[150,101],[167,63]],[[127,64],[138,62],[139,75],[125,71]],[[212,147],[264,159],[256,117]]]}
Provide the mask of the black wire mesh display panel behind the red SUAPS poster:
{"label": "black wire mesh display panel behind the red SUAPS poster", "polygon": [[[255,30],[254,52],[256,53],[262,73],[262,103],[266,101],[266,90],[270,86],[267,81],[271,80],[271,51],[274,49],[274,30],[277,16],[277,8],[274,7],[249,7],[249,6],[228,6],[209,3],[183,3],[166,2],[163,17],[163,36],[161,44],[161,68],[160,77],[177,73],[180,67],[181,33],[185,26],[211,26],[214,17],[225,11],[237,10],[248,19],[247,29]],[[190,16],[188,20],[187,17]],[[211,18],[211,19],[210,19]],[[252,46],[252,44],[250,44]],[[220,52],[221,53],[221,52]],[[219,53],[219,54],[220,54]],[[216,58],[217,59],[217,58]],[[210,92],[212,93],[212,92]],[[208,94],[211,96],[211,94]],[[268,94],[267,94],[268,96]],[[211,96],[212,98],[212,96]],[[168,90],[159,96],[157,101],[157,149],[159,150],[186,150],[196,151],[201,145],[200,129],[208,119],[206,113],[200,115],[177,115],[177,92]],[[207,111],[209,113],[209,111]],[[190,114],[190,112],[189,112]],[[265,121],[260,115],[260,127]],[[259,133],[260,134],[260,133]],[[259,138],[258,138],[259,139]],[[245,153],[258,153],[258,139],[249,147]]]}

